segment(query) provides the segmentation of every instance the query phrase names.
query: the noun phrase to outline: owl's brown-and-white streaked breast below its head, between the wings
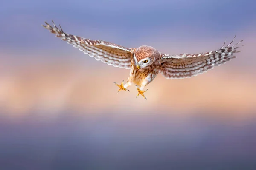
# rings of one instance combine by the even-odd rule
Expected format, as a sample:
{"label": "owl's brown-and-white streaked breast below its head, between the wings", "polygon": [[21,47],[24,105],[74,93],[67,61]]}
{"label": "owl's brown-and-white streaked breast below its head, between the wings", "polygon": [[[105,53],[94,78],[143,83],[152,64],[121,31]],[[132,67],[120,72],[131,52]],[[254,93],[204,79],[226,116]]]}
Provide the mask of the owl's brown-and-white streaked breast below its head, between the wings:
{"label": "owl's brown-and-white streaked breast below its head, between the wings", "polygon": [[153,81],[153,79],[157,76],[159,70],[160,70],[160,60],[154,62],[153,64],[145,67],[137,69],[136,65],[134,64],[134,60],[131,61],[131,71],[130,71],[130,77],[132,78],[132,82],[135,85],[141,86],[141,84],[147,80],[148,85],[150,82]]}

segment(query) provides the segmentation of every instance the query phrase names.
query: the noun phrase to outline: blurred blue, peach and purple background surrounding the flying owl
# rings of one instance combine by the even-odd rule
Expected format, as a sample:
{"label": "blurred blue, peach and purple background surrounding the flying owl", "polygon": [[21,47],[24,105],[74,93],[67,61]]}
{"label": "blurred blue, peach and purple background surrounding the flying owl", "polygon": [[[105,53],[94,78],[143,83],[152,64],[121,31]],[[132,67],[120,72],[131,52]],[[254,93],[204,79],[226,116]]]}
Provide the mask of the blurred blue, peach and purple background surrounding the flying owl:
{"label": "blurred blue, peach and purple background surrounding the flying owl", "polygon": [[[12,0],[0,5],[1,170],[255,170],[254,0]],[[190,79],[96,61],[41,24],[126,47],[196,54],[244,39],[236,59]]]}

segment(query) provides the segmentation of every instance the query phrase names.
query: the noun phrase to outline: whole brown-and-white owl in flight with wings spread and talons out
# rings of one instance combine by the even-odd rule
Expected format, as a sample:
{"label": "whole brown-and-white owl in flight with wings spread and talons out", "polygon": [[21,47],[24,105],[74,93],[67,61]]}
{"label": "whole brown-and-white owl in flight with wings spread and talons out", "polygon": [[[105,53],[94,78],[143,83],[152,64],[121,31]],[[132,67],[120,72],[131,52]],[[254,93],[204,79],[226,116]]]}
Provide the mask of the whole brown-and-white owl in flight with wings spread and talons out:
{"label": "whole brown-and-white owl in flight with wings spread and talons out", "polygon": [[[47,22],[42,25],[51,33],[56,34],[55,37],[67,41],[73,47],[79,48],[84,54],[94,57],[98,61],[113,65],[114,67],[130,69],[130,76],[125,84],[115,83],[119,87],[119,91],[129,91],[127,88],[134,83],[137,87],[139,95],[142,95],[146,85],[154,80],[158,73],[161,73],[166,79],[183,79],[203,74],[211,70],[214,66],[224,64],[230,59],[235,58],[234,53],[240,51],[237,46],[231,43],[224,47],[224,45],[216,50],[200,54],[180,54],[180,55],[167,55],[150,46],[140,46],[139,48],[126,48],[121,45],[116,45],[111,42],[103,40],[90,40],[83,37],[65,33],[61,26],[58,28],[52,21],[53,27]],[[242,45],[243,46],[243,45]],[[147,91],[147,90],[146,90]],[[137,97],[136,96],[136,97]]]}

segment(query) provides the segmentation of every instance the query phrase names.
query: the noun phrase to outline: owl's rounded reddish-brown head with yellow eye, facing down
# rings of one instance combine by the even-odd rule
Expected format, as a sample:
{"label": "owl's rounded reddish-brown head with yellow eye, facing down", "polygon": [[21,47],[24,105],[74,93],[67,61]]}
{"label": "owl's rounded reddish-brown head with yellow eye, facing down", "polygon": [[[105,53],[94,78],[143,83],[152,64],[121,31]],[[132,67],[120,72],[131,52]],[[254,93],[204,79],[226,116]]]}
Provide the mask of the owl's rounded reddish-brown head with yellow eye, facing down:
{"label": "owl's rounded reddish-brown head with yellow eye, facing down", "polygon": [[160,52],[150,46],[140,46],[134,50],[134,62],[138,69],[153,64],[160,58]]}

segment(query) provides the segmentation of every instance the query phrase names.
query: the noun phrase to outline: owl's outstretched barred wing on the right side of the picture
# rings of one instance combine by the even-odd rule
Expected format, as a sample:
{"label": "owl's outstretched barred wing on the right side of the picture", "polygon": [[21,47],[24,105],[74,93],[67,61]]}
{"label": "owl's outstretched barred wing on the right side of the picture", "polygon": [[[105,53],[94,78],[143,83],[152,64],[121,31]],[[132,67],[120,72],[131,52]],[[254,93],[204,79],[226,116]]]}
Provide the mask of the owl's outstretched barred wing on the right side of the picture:
{"label": "owl's outstretched barred wing on the right side of the picture", "polygon": [[[235,37],[233,41],[235,40]],[[167,79],[183,79],[197,76],[198,74],[203,74],[208,70],[213,69],[214,66],[224,64],[230,59],[236,58],[236,56],[234,56],[234,53],[240,52],[237,51],[237,48],[241,46],[235,46],[242,41],[243,40],[232,46],[230,46],[232,43],[230,42],[230,44],[226,47],[224,47],[224,43],[224,45],[219,50],[210,51],[207,53],[185,53],[172,56],[163,54],[160,73],[162,73],[163,76]]]}

